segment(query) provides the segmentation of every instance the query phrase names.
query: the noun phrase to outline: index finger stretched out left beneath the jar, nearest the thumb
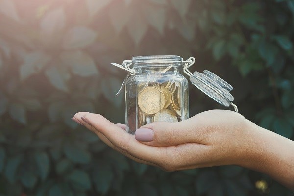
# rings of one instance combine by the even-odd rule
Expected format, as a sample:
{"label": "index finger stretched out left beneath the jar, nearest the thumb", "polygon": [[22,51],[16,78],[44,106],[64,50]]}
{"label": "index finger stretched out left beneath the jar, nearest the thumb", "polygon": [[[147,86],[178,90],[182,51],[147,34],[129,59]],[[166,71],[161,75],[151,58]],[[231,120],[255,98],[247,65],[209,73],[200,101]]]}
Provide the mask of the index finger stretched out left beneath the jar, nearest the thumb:
{"label": "index finger stretched out left beneath the jar, nearest the thumb", "polygon": [[87,114],[84,118],[121,152],[147,162],[155,164],[160,162],[160,148],[140,143],[134,135],[127,133],[99,114]]}

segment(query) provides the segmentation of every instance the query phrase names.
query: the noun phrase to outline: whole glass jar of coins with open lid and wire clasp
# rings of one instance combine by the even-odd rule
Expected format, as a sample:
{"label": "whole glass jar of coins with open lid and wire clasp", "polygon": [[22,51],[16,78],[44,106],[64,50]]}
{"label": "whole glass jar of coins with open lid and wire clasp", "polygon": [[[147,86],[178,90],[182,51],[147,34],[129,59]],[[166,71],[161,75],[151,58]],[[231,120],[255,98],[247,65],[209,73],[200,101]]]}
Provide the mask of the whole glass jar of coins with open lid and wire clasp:
{"label": "whole glass jar of coins with open lid and wire clasp", "polygon": [[232,105],[238,112],[229,93],[233,87],[207,70],[191,73],[188,68],[194,63],[193,57],[184,61],[172,55],[137,56],[125,60],[123,65],[112,63],[129,72],[118,92],[124,87],[128,133],[135,134],[139,127],[153,122],[179,122],[189,118],[188,80],[179,73],[181,66],[193,85],[222,105]]}

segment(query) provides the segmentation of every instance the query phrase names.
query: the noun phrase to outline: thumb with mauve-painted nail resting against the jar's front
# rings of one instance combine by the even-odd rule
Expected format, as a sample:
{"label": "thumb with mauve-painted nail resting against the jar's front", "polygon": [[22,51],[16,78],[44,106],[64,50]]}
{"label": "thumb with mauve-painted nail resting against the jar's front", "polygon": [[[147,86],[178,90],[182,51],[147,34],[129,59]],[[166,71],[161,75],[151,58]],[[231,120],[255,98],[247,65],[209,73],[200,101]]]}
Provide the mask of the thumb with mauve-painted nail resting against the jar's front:
{"label": "thumb with mauve-painted nail resting against the jar's front", "polygon": [[203,135],[203,125],[196,116],[177,123],[155,122],[146,124],[135,132],[136,140],[150,146],[173,146],[183,143],[201,143]]}

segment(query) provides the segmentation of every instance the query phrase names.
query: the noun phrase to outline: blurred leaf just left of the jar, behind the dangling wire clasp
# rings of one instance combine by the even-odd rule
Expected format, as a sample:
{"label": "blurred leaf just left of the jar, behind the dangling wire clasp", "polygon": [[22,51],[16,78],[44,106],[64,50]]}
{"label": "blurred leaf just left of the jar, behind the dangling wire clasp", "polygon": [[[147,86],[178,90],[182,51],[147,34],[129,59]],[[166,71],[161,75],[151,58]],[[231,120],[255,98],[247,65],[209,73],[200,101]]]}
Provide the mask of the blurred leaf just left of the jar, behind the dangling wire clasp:
{"label": "blurred leaf just left of the jar, behind the dangling wire clasp", "polygon": [[105,98],[107,98],[116,107],[121,106],[123,99],[121,97],[116,97],[116,93],[121,86],[121,81],[116,77],[108,77],[102,80],[102,93]]}

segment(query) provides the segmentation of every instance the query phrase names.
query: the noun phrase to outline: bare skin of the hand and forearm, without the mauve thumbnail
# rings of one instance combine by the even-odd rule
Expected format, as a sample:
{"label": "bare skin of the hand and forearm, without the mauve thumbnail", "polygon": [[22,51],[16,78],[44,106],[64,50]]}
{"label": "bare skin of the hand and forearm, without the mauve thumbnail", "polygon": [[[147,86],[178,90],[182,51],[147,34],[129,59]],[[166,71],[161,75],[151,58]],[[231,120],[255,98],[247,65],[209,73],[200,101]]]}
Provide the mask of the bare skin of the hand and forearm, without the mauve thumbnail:
{"label": "bare skin of the hand and forearm, without the mauve thumbnail", "polygon": [[270,175],[294,190],[294,141],[228,110],[210,110],[177,123],[155,122],[153,140],[140,142],[99,114],[79,112],[73,120],[113,149],[166,171],[238,165]]}

